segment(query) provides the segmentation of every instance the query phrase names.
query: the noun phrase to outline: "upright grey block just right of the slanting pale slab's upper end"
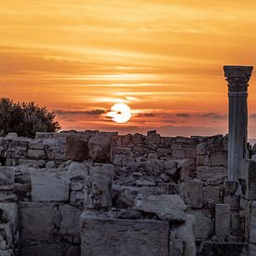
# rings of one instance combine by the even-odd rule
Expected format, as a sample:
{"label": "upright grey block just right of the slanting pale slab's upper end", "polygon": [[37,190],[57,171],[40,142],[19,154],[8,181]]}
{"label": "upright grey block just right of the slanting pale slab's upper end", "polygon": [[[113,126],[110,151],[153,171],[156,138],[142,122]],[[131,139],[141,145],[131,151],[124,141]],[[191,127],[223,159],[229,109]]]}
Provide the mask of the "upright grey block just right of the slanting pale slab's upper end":
{"label": "upright grey block just right of the slanting pale slab's upper end", "polygon": [[203,208],[203,186],[204,182],[194,179],[190,184],[190,206],[195,209]]}

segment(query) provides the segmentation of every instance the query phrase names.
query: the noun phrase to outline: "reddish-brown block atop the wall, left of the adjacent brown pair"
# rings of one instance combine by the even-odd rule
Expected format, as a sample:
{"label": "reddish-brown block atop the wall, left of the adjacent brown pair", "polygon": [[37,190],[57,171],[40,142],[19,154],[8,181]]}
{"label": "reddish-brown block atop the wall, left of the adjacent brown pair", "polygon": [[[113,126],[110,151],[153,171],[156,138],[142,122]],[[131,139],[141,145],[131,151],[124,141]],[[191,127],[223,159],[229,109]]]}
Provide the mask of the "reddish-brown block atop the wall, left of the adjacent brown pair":
{"label": "reddish-brown block atop the wall, left of the adjacent brown pair", "polygon": [[65,156],[74,161],[88,159],[88,139],[79,135],[69,135],[66,138]]}

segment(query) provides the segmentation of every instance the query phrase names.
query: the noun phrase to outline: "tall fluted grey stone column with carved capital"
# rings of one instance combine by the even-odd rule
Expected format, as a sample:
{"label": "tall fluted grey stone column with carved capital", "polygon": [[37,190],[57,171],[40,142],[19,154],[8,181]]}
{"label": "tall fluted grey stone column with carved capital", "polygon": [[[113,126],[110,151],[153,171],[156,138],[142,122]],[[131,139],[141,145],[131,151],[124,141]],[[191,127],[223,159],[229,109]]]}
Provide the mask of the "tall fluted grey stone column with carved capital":
{"label": "tall fluted grey stone column with carved capital", "polygon": [[253,67],[224,66],[229,97],[228,180],[245,177],[248,140],[248,82]]}

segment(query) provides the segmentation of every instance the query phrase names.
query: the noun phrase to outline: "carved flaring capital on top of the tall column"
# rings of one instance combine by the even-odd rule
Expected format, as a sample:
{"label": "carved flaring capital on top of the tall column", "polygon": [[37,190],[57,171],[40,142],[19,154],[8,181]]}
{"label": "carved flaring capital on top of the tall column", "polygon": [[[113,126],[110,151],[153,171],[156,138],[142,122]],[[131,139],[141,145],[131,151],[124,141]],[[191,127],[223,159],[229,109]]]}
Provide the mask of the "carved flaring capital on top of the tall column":
{"label": "carved flaring capital on top of the tall column", "polygon": [[247,91],[252,66],[224,66],[229,91]]}

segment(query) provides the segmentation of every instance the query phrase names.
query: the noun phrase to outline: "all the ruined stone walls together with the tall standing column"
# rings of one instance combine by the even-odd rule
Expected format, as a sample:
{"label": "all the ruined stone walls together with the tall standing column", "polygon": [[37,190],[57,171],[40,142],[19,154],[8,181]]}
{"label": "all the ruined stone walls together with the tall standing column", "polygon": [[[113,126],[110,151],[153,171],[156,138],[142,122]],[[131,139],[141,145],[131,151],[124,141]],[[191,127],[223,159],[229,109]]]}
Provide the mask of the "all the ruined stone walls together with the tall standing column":
{"label": "all the ruined stone walls together with the tall standing column", "polygon": [[224,67],[227,136],[0,138],[1,256],[256,255],[251,67]]}

